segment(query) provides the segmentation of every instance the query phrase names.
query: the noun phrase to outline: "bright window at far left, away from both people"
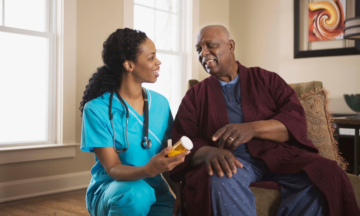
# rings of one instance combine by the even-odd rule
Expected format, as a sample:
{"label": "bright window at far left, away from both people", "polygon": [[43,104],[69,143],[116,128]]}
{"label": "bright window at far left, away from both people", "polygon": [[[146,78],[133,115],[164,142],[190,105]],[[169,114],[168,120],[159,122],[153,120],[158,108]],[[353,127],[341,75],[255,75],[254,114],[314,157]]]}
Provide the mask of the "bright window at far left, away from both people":
{"label": "bright window at far left, away from both people", "polygon": [[53,143],[53,0],[0,0],[0,145]]}

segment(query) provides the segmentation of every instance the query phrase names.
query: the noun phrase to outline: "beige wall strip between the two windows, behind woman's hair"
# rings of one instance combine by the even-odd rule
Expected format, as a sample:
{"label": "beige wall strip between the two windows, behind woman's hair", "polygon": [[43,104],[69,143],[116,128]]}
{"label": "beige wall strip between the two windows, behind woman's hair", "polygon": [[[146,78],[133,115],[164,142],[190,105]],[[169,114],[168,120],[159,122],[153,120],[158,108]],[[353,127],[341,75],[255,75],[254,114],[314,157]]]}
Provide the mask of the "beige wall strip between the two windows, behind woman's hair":
{"label": "beige wall strip between the two windows, behind woman's hair", "polygon": [[[76,109],[96,68],[103,65],[103,42],[122,28],[122,0],[77,0]],[[81,112],[76,115],[76,142],[81,139]],[[90,155],[90,154],[89,154]],[[93,157],[93,154],[91,154]]]}

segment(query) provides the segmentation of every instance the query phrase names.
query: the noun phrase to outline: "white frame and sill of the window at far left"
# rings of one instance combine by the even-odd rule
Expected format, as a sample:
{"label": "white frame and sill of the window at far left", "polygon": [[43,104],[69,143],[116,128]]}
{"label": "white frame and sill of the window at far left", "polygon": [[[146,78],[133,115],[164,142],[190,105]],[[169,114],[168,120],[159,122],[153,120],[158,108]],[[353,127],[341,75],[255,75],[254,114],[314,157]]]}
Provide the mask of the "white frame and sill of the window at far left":
{"label": "white frame and sill of the window at far left", "polygon": [[[3,3],[0,0],[0,3]],[[75,157],[76,1],[46,0],[48,32],[0,26],[0,31],[48,37],[48,139],[0,145],[0,164]],[[0,23],[3,24],[3,23]],[[50,31],[51,30],[51,31]],[[51,103],[50,103],[51,102]],[[51,117],[50,117],[51,116]]]}

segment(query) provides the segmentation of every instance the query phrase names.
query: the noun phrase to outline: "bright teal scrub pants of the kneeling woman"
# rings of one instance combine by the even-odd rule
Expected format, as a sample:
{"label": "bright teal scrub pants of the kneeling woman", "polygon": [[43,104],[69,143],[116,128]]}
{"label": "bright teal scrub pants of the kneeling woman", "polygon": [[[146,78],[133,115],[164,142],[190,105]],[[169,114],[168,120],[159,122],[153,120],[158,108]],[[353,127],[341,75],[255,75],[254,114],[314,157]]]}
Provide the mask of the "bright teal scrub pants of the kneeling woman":
{"label": "bright teal scrub pants of the kneeling woman", "polygon": [[91,216],[172,216],[175,198],[168,190],[156,195],[143,180],[112,181],[92,198]]}

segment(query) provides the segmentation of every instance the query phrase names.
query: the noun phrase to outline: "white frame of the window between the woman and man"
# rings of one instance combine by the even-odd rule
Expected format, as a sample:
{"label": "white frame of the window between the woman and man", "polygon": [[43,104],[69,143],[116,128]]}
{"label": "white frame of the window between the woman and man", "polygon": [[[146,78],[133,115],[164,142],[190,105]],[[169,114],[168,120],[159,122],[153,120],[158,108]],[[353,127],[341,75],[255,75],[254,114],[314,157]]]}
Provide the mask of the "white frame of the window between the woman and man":
{"label": "white frame of the window between the woman and man", "polygon": [[[123,28],[134,28],[134,0],[123,1]],[[136,4],[140,5],[140,4]],[[148,6],[140,5],[151,8]],[[179,32],[178,32],[178,50],[156,49],[157,53],[177,55],[180,57],[180,101],[186,93],[187,82],[192,78],[192,8],[193,0],[179,0]],[[156,9],[159,10],[159,9]],[[160,10],[163,11],[163,10]],[[164,11],[168,12],[168,11]],[[172,12],[168,12],[172,13]],[[172,13],[174,14],[174,13]],[[146,32],[145,32],[146,33]],[[173,113],[175,116],[176,113]]]}

